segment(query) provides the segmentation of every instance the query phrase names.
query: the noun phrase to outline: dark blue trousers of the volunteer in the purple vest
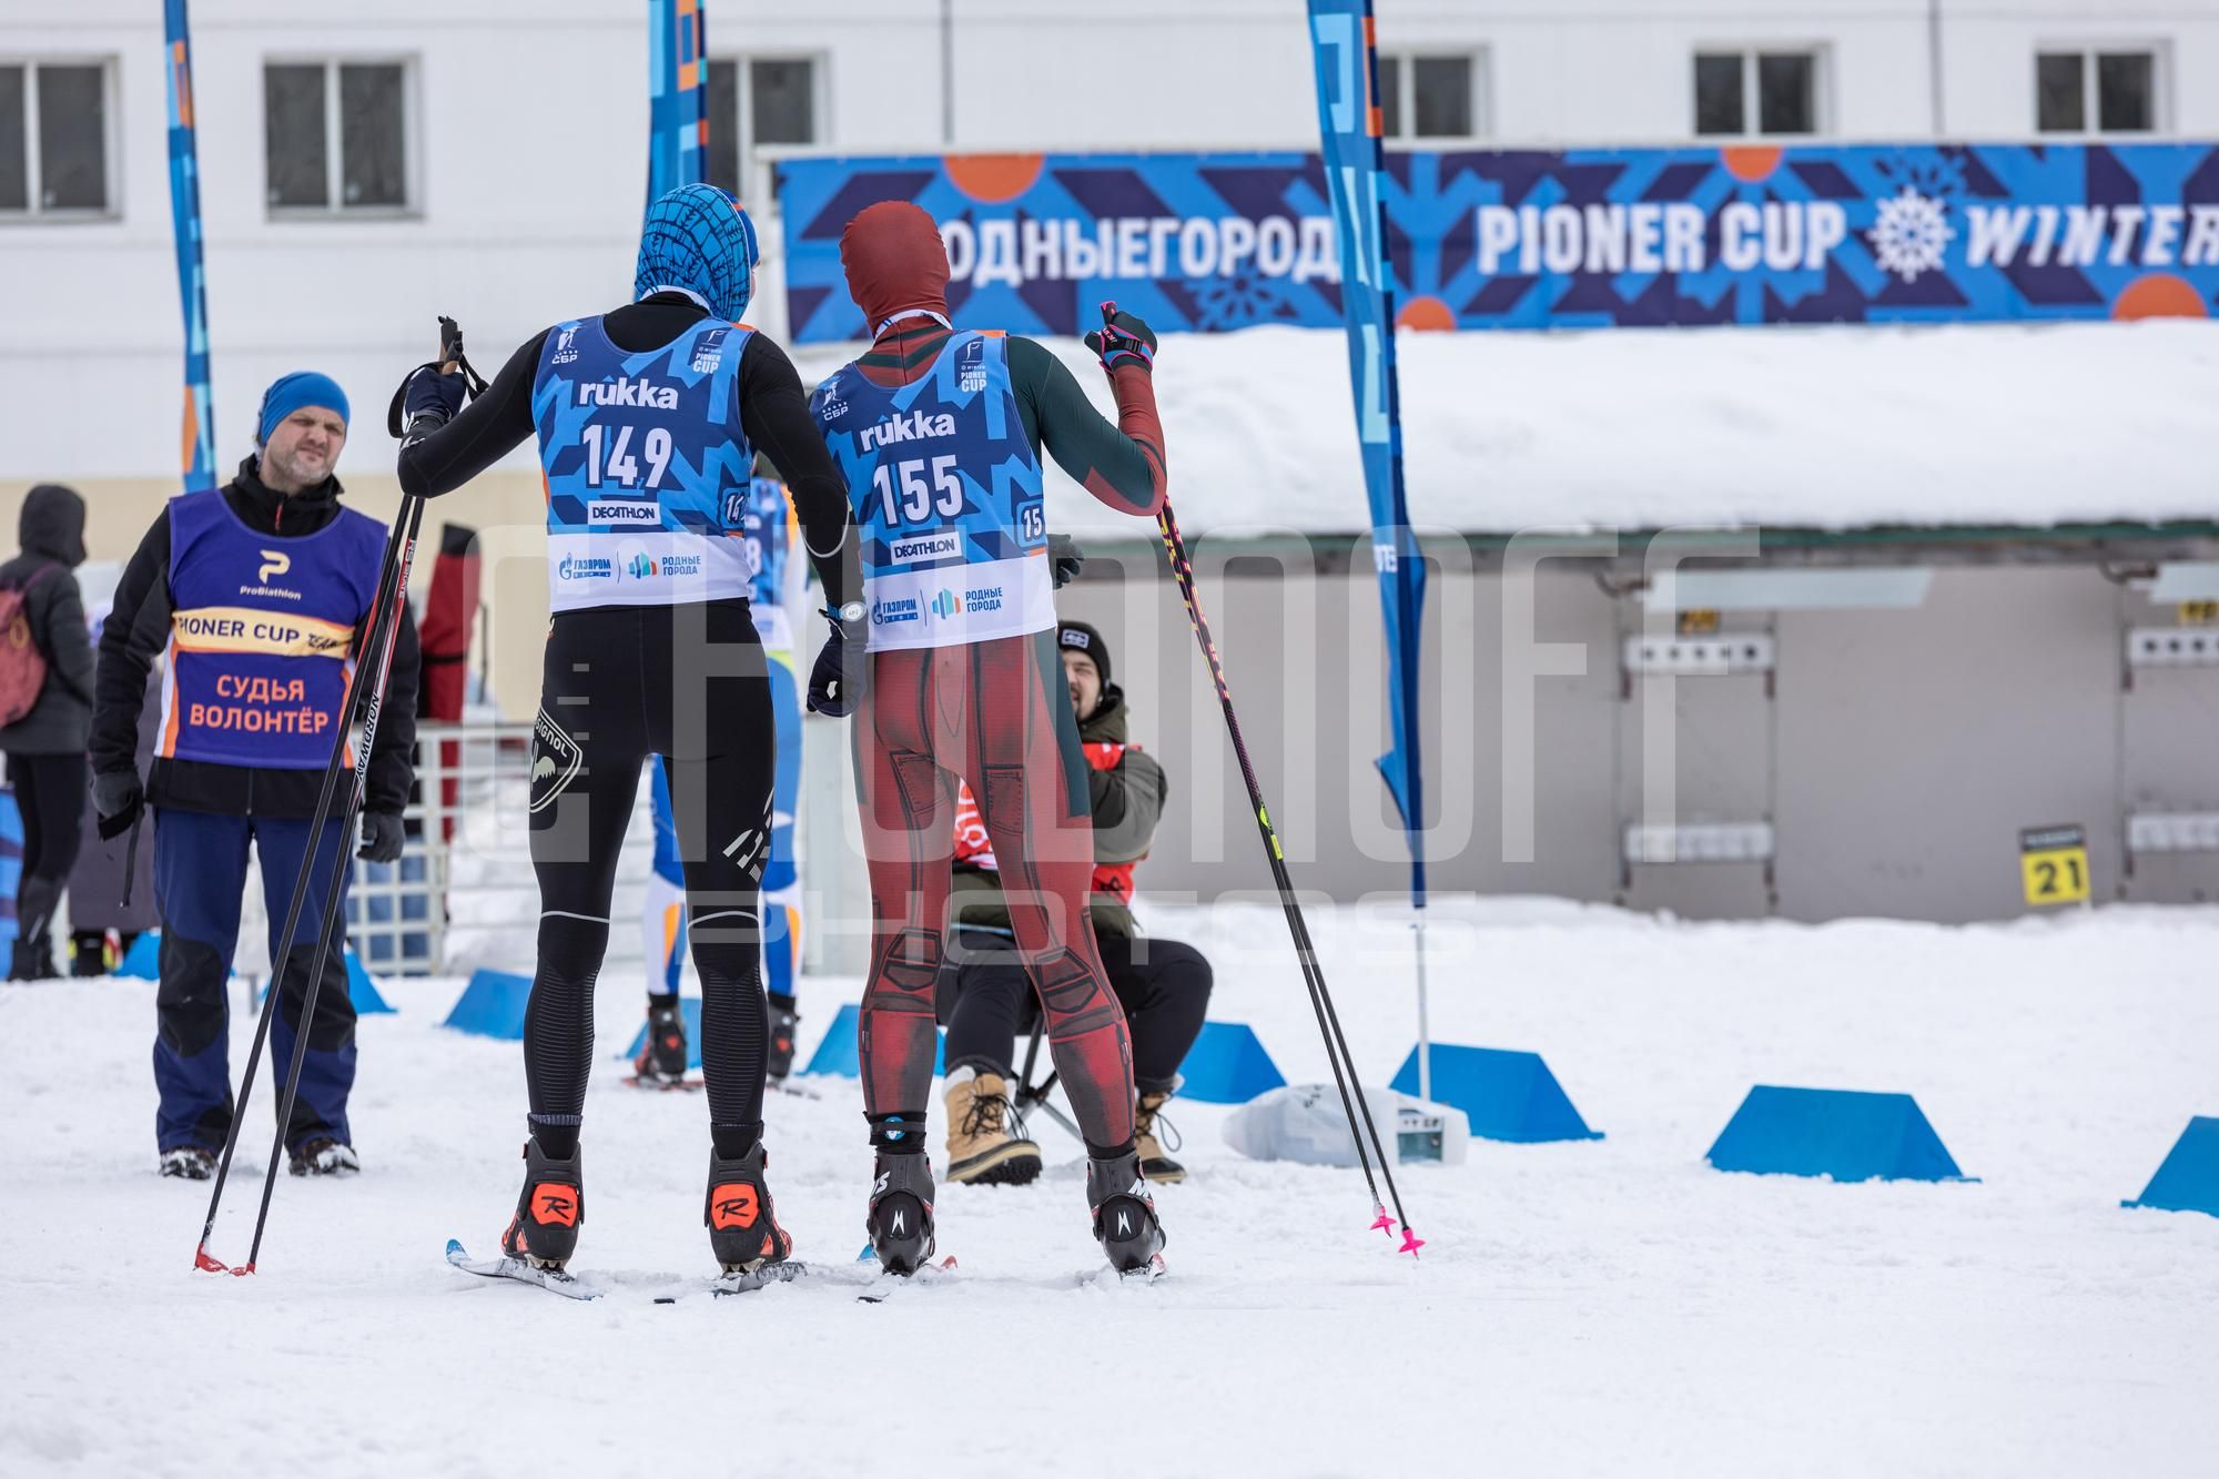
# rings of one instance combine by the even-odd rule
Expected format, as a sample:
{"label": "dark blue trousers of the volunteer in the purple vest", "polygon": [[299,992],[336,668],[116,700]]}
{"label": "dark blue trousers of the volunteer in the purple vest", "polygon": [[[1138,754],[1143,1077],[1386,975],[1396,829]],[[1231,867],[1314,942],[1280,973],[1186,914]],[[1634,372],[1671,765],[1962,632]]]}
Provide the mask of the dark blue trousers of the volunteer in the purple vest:
{"label": "dark blue trousers of the volunteer in the purple vest", "polygon": [[[308,877],[308,899],[300,910],[293,950],[284,970],[271,962],[277,982],[277,1015],[271,1022],[271,1064],[262,1070],[275,1106],[284,1073],[293,1066],[300,1008],[308,997],[308,964],[324,922],[333,873],[340,884],[340,928],[308,1024],[308,1055],[300,1066],[300,1097],[286,1126],[286,1146],[331,1137],[353,1144],[346,1126],[346,1093],[355,1086],[355,1002],[346,990],[346,879],[348,828],[324,826]],[[246,888],[246,846],[262,857],[262,902],[268,910],[271,953],[284,928],[300,859],[308,851],[308,822],[271,817],[217,817],[202,811],[155,811],[153,893],[162,913],[162,984],[155,993],[160,1033],[153,1044],[153,1081],[162,1095],[155,1135],[162,1150],[178,1146],[217,1148],[231,1133],[229,977],[240,942],[240,893]]]}

